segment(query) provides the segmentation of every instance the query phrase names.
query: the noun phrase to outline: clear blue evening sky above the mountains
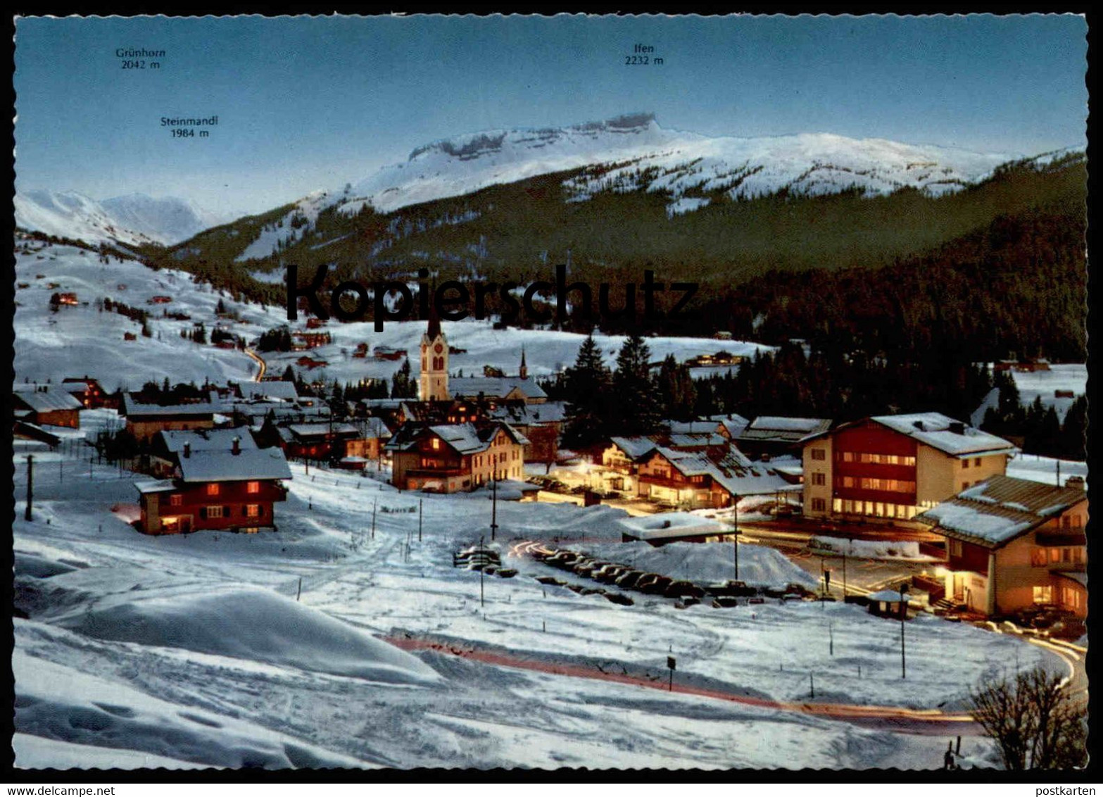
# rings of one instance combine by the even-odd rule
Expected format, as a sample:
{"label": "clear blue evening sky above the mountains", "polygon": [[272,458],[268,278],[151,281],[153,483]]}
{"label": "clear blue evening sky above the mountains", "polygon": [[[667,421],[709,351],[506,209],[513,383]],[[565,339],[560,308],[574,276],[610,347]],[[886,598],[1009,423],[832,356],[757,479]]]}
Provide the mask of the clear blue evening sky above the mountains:
{"label": "clear blue evening sky above the mountains", "polygon": [[[474,130],[654,111],[1035,155],[1085,139],[1075,15],[41,19],[15,29],[17,185],[259,212]],[[627,66],[635,43],[662,65]],[[122,70],[119,47],[165,50]],[[162,116],[211,116],[173,139]]]}

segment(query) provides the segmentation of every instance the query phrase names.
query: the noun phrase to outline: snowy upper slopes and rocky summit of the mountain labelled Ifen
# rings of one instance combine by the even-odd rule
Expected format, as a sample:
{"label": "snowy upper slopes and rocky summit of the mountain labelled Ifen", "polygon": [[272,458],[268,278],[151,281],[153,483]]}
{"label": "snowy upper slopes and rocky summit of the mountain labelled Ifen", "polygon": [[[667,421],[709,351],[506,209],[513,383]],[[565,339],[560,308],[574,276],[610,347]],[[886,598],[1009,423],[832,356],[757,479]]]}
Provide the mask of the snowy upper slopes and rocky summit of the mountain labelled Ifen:
{"label": "snowy upper slopes and rocky summit of the mountain labelled Ifen", "polygon": [[[706,194],[752,198],[788,191],[829,194],[860,189],[886,194],[914,188],[930,194],[956,191],[1020,156],[971,152],[951,147],[854,139],[831,134],[759,138],[707,137],[661,127],[651,114],[633,114],[570,127],[485,130],[417,147],[403,163],[344,189],[313,193],[298,212],[315,217],[319,200],[342,213],[365,205],[390,212],[419,202],[457,196],[537,174],[591,167],[571,181],[576,201],[597,191],[665,191],[668,212],[708,204]],[[272,253],[278,236],[309,227],[270,231],[247,257]]]}

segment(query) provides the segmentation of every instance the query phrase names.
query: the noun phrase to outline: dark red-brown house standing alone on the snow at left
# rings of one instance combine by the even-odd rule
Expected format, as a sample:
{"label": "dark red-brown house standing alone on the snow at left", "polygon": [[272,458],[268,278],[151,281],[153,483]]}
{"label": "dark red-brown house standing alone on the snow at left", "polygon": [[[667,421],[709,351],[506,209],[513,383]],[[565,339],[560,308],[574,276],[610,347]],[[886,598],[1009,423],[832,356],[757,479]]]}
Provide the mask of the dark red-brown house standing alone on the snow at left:
{"label": "dark red-brown house standing alone on the snow at left", "polygon": [[290,478],[279,448],[193,451],[185,445],[172,478],[135,485],[138,528],[144,534],[275,529],[274,507],[287,500],[282,481]]}

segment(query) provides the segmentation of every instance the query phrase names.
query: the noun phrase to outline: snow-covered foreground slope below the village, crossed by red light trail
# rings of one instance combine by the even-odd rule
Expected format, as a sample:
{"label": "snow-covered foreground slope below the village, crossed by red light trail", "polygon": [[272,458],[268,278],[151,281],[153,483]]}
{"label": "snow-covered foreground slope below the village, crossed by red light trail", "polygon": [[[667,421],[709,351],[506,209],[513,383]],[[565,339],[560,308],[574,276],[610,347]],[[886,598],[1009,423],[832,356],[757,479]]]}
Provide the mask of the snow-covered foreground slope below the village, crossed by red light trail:
{"label": "snow-covered foreground slope below the village, crossed by red light trail", "polygon": [[[451,556],[486,533],[478,497],[292,464],[278,531],[144,536],[126,522],[142,477],[78,446],[33,453],[33,520],[20,500],[13,522],[18,767],[932,768],[942,734],[852,724],[829,704],[956,712],[1008,662],[1061,666],[1018,637],[920,616],[904,681],[899,624],[861,607],[614,605],[538,583],[560,571],[510,542],[600,535],[622,517],[609,507],[500,501],[494,544],[520,572],[486,576],[481,601],[479,574]],[[636,555],[683,575],[686,548]],[[689,552],[695,570],[706,548]],[[607,678],[622,672],[639,680]],[[963,751],[990,747],[965,735]]]}

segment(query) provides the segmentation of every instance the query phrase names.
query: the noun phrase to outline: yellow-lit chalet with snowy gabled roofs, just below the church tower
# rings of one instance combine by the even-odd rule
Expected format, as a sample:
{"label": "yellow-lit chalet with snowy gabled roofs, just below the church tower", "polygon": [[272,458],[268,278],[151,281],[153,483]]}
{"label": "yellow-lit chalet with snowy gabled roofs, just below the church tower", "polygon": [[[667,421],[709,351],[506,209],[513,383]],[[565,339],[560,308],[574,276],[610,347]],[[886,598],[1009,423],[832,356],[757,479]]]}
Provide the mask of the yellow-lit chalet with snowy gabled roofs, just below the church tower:
{"label": "yellow-lit chalet with snowy gabled roofs, just below the church tower", "polygon": [[528,440],[510,424],[405,424],[384,446],[400,490],[459,492],[493,480],[523,480]]}

